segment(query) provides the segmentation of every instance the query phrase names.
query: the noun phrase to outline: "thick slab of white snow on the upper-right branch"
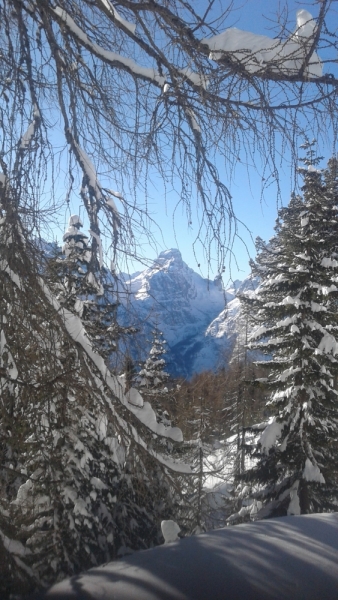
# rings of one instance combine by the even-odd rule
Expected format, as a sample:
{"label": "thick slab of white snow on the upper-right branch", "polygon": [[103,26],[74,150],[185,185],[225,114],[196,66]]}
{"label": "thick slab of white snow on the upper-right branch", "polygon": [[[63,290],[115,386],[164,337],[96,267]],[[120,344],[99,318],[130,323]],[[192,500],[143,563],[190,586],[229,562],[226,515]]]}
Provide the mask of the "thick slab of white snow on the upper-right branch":
{"label": "thick slab of white snow on the upper-right branch", "polygon": [[210,60],[237,61],[250,74],[261,75],[268,70],[295,76],[305,66],[305,75],[322,77],[322,62],[316,52],[306,64],[315,32],[316,22],[312,15],[307,10],[299,10],[297,29],[287,40],[272,39],[233,27],[201,42],[208,46]]}

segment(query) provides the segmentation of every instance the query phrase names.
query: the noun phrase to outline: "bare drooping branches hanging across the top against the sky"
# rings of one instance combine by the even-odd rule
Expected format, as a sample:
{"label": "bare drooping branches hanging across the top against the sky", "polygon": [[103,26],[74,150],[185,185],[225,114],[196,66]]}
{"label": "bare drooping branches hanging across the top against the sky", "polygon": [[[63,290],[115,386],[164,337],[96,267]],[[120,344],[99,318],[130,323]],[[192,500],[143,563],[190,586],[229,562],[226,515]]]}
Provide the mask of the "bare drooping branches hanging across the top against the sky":
{"label": "bare drooping branches hanging across the top against the sky", "polygon": [[316,19],[298,11],[296,24],[285,10],[274,38],[234,29],[232,10],[214,0],[3,0],[1,181],[28,229],[60,214],[80,177],[93,250],[106,236],[114,254],[135,255],[159,174],[188,223],[198,211],[198,238],[207,254],[216,243],[223,263],[240,154],[263,157],[268,185],[280,147],[296,162],[297,134],[337,127],[333,1]]}

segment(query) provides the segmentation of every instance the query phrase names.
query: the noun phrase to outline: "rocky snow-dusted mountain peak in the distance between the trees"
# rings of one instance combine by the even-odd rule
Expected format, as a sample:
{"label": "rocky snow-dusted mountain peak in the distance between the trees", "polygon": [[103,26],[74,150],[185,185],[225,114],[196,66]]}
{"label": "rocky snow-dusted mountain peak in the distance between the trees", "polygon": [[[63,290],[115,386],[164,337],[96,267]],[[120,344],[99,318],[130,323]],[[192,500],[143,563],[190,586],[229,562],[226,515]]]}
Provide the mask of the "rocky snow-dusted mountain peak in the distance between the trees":
{"label": "rocky snow-dusted mountain peak in the distance between the trees", "polygon": [[156,323],[168,344],[172,374],[191,376],[228,361],[240,325],[235,294],[247,283],[235,281],[225,290],[220,276],[204,279],[177,249],[161,252],[150,268],[124,278],[130,293],[120,318],[139,325],[138,344],[133,340],[130,349],[136,360],[142,360]]}

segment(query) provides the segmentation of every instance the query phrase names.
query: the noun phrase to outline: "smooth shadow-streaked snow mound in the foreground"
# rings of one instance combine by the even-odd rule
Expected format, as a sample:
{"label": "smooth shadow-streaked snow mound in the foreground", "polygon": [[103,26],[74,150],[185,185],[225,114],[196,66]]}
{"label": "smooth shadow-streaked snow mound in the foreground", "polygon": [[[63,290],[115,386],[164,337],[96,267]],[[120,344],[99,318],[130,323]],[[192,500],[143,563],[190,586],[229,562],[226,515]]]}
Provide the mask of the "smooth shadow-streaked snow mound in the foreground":
{"label": "smooth shadow-streaked snow mound in the foreground", "polygon": [[338,514],[185,538],[65,580],[53,600],[337,600]]}

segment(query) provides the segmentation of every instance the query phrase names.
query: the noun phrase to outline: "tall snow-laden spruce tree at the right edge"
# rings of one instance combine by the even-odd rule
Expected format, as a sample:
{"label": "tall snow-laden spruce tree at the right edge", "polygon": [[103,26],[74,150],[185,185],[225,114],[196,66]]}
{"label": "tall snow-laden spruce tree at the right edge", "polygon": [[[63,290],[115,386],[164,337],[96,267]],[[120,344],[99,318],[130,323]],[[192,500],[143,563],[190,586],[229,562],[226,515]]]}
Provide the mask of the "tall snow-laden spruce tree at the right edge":
{"label": "tall snow-laden spruce tree at the right edge", "polygon": [[269,244],[258,240],[261,285],[247,300],[275,415],[245,474],[262,518],[338,509],[338,170],[336,159],[319,170],[305,147],[303,198],[279,211]]}

